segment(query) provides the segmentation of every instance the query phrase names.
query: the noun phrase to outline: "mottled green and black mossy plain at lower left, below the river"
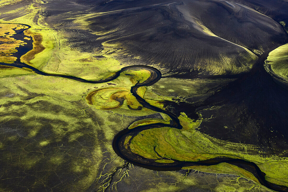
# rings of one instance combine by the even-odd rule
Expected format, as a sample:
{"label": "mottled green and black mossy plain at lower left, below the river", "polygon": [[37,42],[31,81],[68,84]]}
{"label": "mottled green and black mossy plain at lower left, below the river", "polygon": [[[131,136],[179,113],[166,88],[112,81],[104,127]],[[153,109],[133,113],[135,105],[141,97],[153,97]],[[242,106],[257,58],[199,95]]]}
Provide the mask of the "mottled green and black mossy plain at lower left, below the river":
{"label": "mottled green and black mossy plain at lower left, below the river", "polygon": [[[15,75],[9,77],[12,70]],[[95,89],[95,84],[13,68],[1,73],[0,85],[0,122],[14,128],[1,134],[2,149],[7,150],[0,163],[11,169],[33,169],[34,180],[16,179],[32,187],[41,180],[48,182],[45,178],[49,175],[65,172],[69,182],[62,187],[86,189],[98,177],[103,147],[113,151],[115,132],[130,124],[121,122],[122,115],[89,108],[83,92]]]}

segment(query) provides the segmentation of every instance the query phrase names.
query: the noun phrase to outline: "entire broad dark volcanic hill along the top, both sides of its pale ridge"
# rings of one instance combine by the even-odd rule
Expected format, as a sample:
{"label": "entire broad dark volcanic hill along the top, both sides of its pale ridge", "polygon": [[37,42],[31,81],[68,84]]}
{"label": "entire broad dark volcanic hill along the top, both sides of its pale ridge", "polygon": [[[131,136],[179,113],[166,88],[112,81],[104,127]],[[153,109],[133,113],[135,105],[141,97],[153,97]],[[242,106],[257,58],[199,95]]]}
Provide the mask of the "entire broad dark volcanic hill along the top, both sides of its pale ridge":
{"label": "entire broad dark volcanic hill along the top, both sides of its pale ridge", "polygon": [[137,62],[159,64],[174,73],[247,72],[257,59],[252,52],[262,53],[286,40],[280,24],[240,3],[77,2],[92,6],[90,13],[101,12],[88,19],[88,27],[105,42],[105,51],[129,54],[129,60],[137,56],[143,58],[134,59]]}

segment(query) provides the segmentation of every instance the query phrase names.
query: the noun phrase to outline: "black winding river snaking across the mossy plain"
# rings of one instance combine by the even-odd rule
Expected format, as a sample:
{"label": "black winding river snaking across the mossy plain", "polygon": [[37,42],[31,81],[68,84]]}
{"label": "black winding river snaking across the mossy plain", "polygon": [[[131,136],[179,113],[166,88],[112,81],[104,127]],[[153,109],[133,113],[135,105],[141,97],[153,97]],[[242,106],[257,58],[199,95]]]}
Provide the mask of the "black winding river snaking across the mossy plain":
{"label": "black winding river snaking across the mossy plain", "polygon": [[[21,24],[21,25],[23,25],[23,24]],[[30,26],[28,26],[28,27],[30,28]],[[17,35],[18,39],[24,38],[24,37],[26,37],[23,33],[23,31],[25,31],[25,30],[17,31],[16,34],[14,34],[14,35]],[[32,42],[33,42],[33,40],[31,39],[30,42],[27,43],[27,45],[32,45]],[[27,52],[27,50],[28,51],[31,50],[31,47],[26,48],[24,50]],[[153,111],[164,113],[164,114],[168,115],[172,120],[170,121],[170,125],[167,125],[164,123],[153,123],[153,124],[149,124],[149,125],[145,125],[145,126],[138,126],[138,127],[133,128],[133,129],[126,128],[126,129],[120,131],[118,134],[116,134],[114,139],[113,139],[112,145],[113,145],[113,149],[114,149],[115,153],[118,156],[120,156],[122,159],[124,159],[124,160],[126,160],[126,161],[128,161],[134,165],[137,165],[137,166],[141,166],[141,167],[151,169],[151,170],[161,170],[161,171],[180,170],[182,167],[194,166],[194,165],[210,166],[210,165],[216,165],[216,164],[220,164],[220,163],[225,162],[225,163],[238,166],[244,170],[251,172],[259,180],[259,183],[261,185],[264,185],[265,187],[267,187],[269,189],[272,189],[274,191],[279,191],[279,192],[280,191],[281,192],[282,191],[288,191],[287,187],[285,187],[285,186],[276,185],[276,184],[268,182],[265,179],[265,173],[262,172],[255,163],[245,161],[242,159],[213,158],[213,159],[208,159],[208,160],[204,160],[204,161],[197,161],[197,162],[178,161],[178,160],[172,159],[175,161],[174,163],[164,164],[164,163],[155,162],[154,161],[155,159],[144,158],[140,155],[132,153],[129,149],[126,149],[124,147],[124,141],[126,139],[126,136],[128,136],[128,135],[132,136],[130,138],[130,141],[131,141],[133,136],[136,136],[139,132],[141,132],[143,130],[147,130],[147,129],[159,128],[159,127],[171,127],[171,128],[175,128],[175,129],[182,129],[182,126],[180,125],[179,119],[177,118],[176,115],[149,104],[144,98],[140,97],[137,94],[137,89],[139,87],[153,85],[154,83],[156,83],[157,81],[159,81],[161,79],[161,73],[158,69],[155,69],[155,68],[150,67],[150,66],[143,66],[143,65],[127,66],[127,67],[122,68],[120,71],[117,71],[113,76],[111,76],[107,79],[101,79],[98,81],[89,81],[89,80],[85,80],[85,79],[82,79],[79,77],[73,77],[73,76],[69,76],[69,75],[45,73],[45,72],[42,72],[42,71],[40,71],[40,70],[38,70],[32,66],[24,64],[24,63],[20,62],[20,56],[25,54],[24,50],[23,51],[18,50],[18,52],[16,52],[16,54],[13,54],[13,56],[17,56],[17,58],[18,58],[15,63],[12,63],[12,64],[0,63],[0,64],[5,65],[5,66],[14,66],[14,67],[18,67],[18,68],[25,67],[25,68],[28,68],[28,69],[32,70],[32,72],[35,72],[39,75],[63,77],[63,78],[73,79],[73,80],[81,81],[81,82],[85,82],[85,83],[109,82],[113,79],[116,79],[120,75],[120,73],[127,71],[127,70],[131,70],[131,69],[146,69],[146,70],[149,70],[151,72],[151,76],[149,77],[149,79],[147,79],[143,83],[137,83],[136,85],[134,85],[131,88],[131,93],[133,96],[135,96],[135,98],[138,100],[138,102],[143,105],[143,107],[145,107],[147,109],[151,109]],[[163,159],[165,159],[165,158],[163,158]]]}

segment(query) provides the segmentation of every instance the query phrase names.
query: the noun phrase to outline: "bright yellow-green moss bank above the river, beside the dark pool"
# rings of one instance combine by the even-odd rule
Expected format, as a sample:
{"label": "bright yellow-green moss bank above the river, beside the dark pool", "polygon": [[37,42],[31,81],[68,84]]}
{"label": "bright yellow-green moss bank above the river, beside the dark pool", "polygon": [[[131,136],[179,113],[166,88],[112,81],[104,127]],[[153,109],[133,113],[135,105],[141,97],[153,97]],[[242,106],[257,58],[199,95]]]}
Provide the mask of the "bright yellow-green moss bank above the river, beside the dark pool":
{"label": "bright yellow-green moss bank above the river, beside the dark pool", "polygon": [[[69,36],[48,26],[44,18],[38,14],[43,8],[38,7],[37,4],[31,4],[23,9],[26,9],[26,14],[9,20],[10,23],[31,26],[25,33],[33,37],[33,50],[21,57],[22,62],[46,73],[68,74],[89,80],[106,79],[123,67],[115,59],[105,57],[98,59],[96,52],[83,53],[69,47],[67,43]],[[33,20],[36,15],[37,23]],[[0,22],[7,21],[0,20]]]}

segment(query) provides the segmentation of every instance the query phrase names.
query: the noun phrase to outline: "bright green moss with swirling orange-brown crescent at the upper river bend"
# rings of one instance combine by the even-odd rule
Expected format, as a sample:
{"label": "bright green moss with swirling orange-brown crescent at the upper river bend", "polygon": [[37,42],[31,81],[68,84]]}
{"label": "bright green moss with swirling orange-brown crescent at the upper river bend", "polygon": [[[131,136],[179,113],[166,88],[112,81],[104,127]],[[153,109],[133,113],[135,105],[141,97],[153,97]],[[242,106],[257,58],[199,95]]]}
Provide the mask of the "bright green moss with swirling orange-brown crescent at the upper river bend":
{"label": "bright green moss with swirling orange-brown crescent at the upper river bend", "polygon": [[[144,108],[130,92],[132,86],[138,82],[143,83],[150,75],[151,72],[149,70],[142,68],[124,71],[118,78],[108,83],[97,84],[97,88],[95,87],[96,90],[92,90],[88,93],[86,100],[88,104],[93,105],[96,109],[113,110],[115,113],[126,116],[151,115],[155,113],[155,111]],[[111,84],[113,84],[113,86],[111,86]],[[165,99],[164,96],[146,92],[145,87],[138,88],[137,93],[139,96],[144,97],[150,104],[160,108],[163,107],[161,101]],[[123,104],[120,104],[120,102],[117,101],[119,98],[124,98]],[[172,98],[168,97],[166,97],[166,99],[172,100]],[[137,111],[132,110],[138,109],[139,107],[142,109]]]}

